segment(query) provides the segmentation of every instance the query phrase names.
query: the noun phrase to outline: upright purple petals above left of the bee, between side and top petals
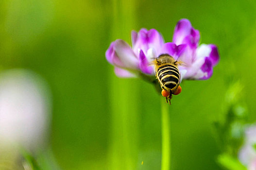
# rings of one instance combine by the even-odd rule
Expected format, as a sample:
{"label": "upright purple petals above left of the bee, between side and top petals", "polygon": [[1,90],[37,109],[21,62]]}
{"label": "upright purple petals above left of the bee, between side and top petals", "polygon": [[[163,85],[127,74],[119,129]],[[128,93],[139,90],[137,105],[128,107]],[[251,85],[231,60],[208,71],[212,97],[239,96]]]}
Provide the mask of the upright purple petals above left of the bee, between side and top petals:
{"label": "upright purple petals above left of the bee, between side and top petals", "polygon": [[[132,39],[135,39],[135,34],[132,33]],[[156,52],[159,51],[164,44],[164,39],[155,29],[147,31],[145,28],[141,29],[137,34],[136,42],[133,40],[133,50],[139,55],[140,50],[146,53],[150,48]]]}

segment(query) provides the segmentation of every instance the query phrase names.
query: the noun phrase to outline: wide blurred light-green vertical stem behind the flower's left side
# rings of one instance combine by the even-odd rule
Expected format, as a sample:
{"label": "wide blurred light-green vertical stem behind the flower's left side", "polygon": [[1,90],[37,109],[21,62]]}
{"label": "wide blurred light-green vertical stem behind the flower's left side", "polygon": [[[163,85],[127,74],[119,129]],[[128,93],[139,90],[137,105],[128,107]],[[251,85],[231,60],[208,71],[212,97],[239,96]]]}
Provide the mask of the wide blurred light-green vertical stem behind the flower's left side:
{"label": "wide blurred light-green vertical stem behind the flower's left side", "polygon": [[[135,0],[112,0],[111,40],[130,41],[135,22]],[[138,155],[138,85],[134,79],[119,79],[110,70],[111,132],[109,170],[136,170]]]}

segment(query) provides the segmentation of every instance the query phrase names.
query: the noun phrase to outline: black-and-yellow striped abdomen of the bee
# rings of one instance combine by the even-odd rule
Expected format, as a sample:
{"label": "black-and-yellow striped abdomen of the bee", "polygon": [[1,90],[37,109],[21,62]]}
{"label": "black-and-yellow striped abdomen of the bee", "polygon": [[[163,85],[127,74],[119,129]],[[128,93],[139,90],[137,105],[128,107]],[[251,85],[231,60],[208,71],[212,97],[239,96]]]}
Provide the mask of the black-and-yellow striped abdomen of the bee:
{"label": "black-and-yellow striped abdomen of the bee", "polygon": [[180,73],[175,66],[161,66],[157,70],[157,75],[164,87],[170,88],[171,90],[179,84]]}

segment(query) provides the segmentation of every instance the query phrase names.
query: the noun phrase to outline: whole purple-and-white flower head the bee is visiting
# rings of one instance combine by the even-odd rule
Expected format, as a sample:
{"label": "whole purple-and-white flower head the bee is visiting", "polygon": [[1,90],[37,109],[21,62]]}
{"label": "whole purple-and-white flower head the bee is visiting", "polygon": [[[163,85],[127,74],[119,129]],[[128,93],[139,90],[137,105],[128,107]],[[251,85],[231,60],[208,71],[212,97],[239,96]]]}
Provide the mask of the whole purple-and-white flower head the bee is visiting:
{"label": "whole purple-and-white flower head the bee is visiting", "polygon": [[154,66],[149,63],[160,54],[168,53],[185,66],[179,66],[181,79],[205,80],[211,77],[213,67],[219,61],[218,49],[213,44],[199,44],[200,34],[188,19],[181,19],[174,30],[173,41],[164,38],[155,29],[142,28],[132,31],[132,47],[117,39],[107,49],[107,61],[114,65],[119,77],[136,77],[139,73],[154,75]]}

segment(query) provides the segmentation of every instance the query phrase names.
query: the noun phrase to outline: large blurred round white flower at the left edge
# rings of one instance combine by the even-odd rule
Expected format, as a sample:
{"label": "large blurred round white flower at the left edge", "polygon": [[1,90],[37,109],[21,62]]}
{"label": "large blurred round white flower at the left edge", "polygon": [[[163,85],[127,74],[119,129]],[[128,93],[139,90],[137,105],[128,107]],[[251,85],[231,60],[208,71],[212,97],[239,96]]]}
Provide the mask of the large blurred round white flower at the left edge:
{"label": "large blurred round white flower at the left edge", "polygon": [[0,144],[38,151],[50,125],[50,95],[38,75],[24,69],[0,74]]}

